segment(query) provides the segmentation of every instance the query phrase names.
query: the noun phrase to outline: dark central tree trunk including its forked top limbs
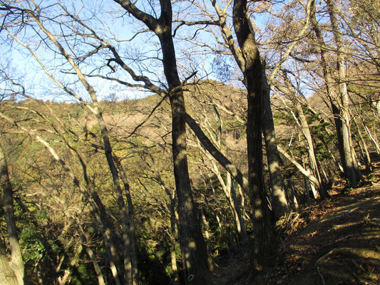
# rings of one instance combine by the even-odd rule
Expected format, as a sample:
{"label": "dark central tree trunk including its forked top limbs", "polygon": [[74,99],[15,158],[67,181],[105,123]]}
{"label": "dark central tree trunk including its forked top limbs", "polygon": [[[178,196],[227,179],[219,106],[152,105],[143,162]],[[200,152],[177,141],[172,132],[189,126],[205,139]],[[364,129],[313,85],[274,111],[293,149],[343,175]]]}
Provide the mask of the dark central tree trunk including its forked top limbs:
{"label": "dark central tree trunk including its forked top limbs", "polygon": [[173,11],[170,0],[160,0],[160,18],[140,11],[130,1],[115,0],[136,19],[142,21],[160,40],[163,53],[163,68],[169,87],[172,111],[172,150],[175,189],[178,197],[179,239],[185,259],[185,280],[190,284],[212,284],[212,274],[207,259],[205,240],[200,222],[195,214],[190,187],[188,159],[186,150],[185,100],[178,76],[175,48],[172,38]]}

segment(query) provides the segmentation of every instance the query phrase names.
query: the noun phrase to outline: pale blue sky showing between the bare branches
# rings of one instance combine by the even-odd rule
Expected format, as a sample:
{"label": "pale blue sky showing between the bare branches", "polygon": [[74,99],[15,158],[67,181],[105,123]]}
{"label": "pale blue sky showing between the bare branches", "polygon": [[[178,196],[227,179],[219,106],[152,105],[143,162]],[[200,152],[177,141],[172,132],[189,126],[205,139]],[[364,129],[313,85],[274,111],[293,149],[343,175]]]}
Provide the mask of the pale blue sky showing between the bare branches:
{"label": "pale blue sky showing between the bare branches", "polygon": [[[71,5],[71,2],[75,4],[75,6]],[[45,6],[47,4],[53,4],[56,1],[48,0],[41,1],[41,6]],[[127,42],[132,38],[135,32],[141,31],[145,28],[143,24],[138,23],[138,21],[133,20],[125,14],[125,11],[120,8],[117,4],[115,4],[111,0],[85,0],[85,1],[64,1],[63,3],[67,4],[68,9],[75,15],[78,15],[81,19],[86,19],[86,23],[88,26],[96,29],[98,33],[104,34],[109,41],[113,43],[113,45],[118,48],[120,51],[120,55],[125,56],[125,61],[130,64],[131,67],[135,68],[135,72],[138,74],[144,74],[151,78],[155,83],[160,84],[159,81],[165,82],[163,79],[163,69],[162,65],[157,58],[160,58],[158,39],[153,33],[141,33],[136,36],[133,42]],[[82,5],[82,3],[84,5]],[[148,6],[148,1],[139,1],[138,5],[140,7],[145,6],[145,10],[151,12],[150,6]],[[207,5],[210,5],[209,1],[205,2]],[[188,2],[178,2],[174,9],[183,9],[188,8]],[[224,6],[224,2],[220,2],[220,6]],[[60,10],[58,6],[53,6],[49,8],[51,11],[46,12],[48,15],[51,13]],[[210,11],[213,12],[212,7],[208,7]],[[120,10],[120,11],[118,11]],[[60,11],[61,12],[61,11]],[[188,9],[189,13],[188,19],[196,19],[194,9]],[[159,13],[159,9],[157,10],[157,14]],[[265,26],[265,19],[267,14],[256,14],[255,15],[255,23],[259,28],[263,28]],[[188,20],[187,19],[187,20]],[[63,20],[67,21],[67,18],[63,18]],[[57,21],[60,21],[57,18]],[[61,33],[61,31],[67,31],[68,27],[63,26],[63,30],[61,30],[60,26],[57,26],[54,22],[46,21],[48,28],[51,28],[51,31],[54,33]],[[89,100],[86,91],[83,89],[81,84],[78,84],[78,80],[76,76],[72,76],[67,73],[63,73],[63,71],[70,71],[66,60],[61,56],[54,54],[53,51],[56,51],[56,48],[49,43],[46,45],[41,38],[36,36],[36,33],[29,27],[24,27],[24,34],[19,34],[20,38],[23,41],[27,41],[34,46],[38,57],[41,58],[43,63],[46,64],[49,72],[53,73],[59,81],[61,81],[66,86],[73,88],[73,90],[78,91],[83,95],[83,98]],[[111,31],[111,33],[110,33]],[[88,31],[87,31],[88,32]],[[218,31],[217,31],[218,32]],[[210,73],[212,71],[212,62],[215,58],[212,54],[207,56],[198,56],[199,53],[197,51],[202,50],[199,46],[188,46],[188,43],[183,43],[180,41],[181,37],[186,37],[189,35],[195,34],[194,28],[182,27],[178,31],[178,34],[175,37],[175,48],[177,51],[178,57],[178,66],[180,67],[180,73],[183,78],[188,76],[192,72],[191,68],[194,68],[198,71],[197,76],[205,76],[206,73]],[[114,41],[113,35],[118,38],[118,41]],[[5,38],[7,36],[6,31],[1,31],[0,37]],[[178,40],[177,40],[178,39]],[[71,43],[76,51],[88,50],[88,46],[86,45],[78,45],[75,46],[74,43],[76,38],[71,38]],[[210,38],[210,33],[197,33],[197,41],[205,43],[210,43],[210,45],[215,45],[215,40]],[[94,41],[96,43],[96,41]],[[42,44],[41,44],[42,43]],[[61,41],[63,45],[65,45],[64,41]],[[68,51],[70,44],[66,45]],[[190,51],[193,51],[193,55],[189,55]],[[21,78],[21,82],[26,86],[27,91],[30,94],[36,95],[38,98],[44,98],[46,100],[68,100],[67,95],[63,95],[60,88],[57,88],[53,81],[48,78],[43,71],[41,70],[41,66],[36,63],[36,60],[31,56],[29,51],[26,51],[25,48],[20,47],[17,43],[12,43],[12,46],[9,43],[3,42],[0,44],[0,55],[1,55],[1,66],[4,66],[9,61],[11,62],[11,66],[14,67],[15,71],[11,71],[11,76],[15,78]],[[109,58],[107,55],[99,55],[93,56],[91,61],[86,62],[86,64],[81,64],[83,72],[90,73],[93,71],[93,66],[98,66],[99,64],[104,64],[106,59]],[[134,59],[141,60],[141,64],[137,64],[137,61],[133,61]],[[190,59],[190,61],[189,61]],[[228,60],[231,66],[234,65],[233,60]],[[182,68],[182,69],[181,69]],[[189,71],[185,71],[186,68],[190,68]],[[107,73],[110,76],[113,76],[113,73],[110,73],[111,69],[102,68],[99,72],[100,74],[106,75]],[[118,73],[118,78],[124,81],[130,81],[129,76],[126,76],[125,71]],[[217,79],[215,75],[209,74],[209,78]],[[125,88],[125,86],[120,86],[117,83],[111,83],[109,81],[103,81],[99,78],[91,78],[88,79],[93,86],[96,88],[98,92],[99,98],[108,98],[111,93],[116,93],[118,98],[136,98],[140,96],[145,96],[147,93],[131,91]],[[133,83],[133,81],[130,81]]]}

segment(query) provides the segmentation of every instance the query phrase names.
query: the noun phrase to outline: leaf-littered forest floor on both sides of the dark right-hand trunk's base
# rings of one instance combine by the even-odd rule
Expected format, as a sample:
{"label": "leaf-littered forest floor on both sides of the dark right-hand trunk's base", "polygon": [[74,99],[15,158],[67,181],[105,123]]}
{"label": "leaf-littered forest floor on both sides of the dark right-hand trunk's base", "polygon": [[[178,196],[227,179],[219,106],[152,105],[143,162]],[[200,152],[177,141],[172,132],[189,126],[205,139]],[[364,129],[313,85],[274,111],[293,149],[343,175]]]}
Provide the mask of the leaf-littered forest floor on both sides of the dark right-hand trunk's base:
{"label": "leaf-littered forest floor on both sides of the dark right-hand trunk's base", "polygon": [[250,249],[222,264],[228,285],[380,284],[380,162],[366,185],[349,190],[335,182],[331,197],[289,214],[283,251],[265,274],[247,282]]}

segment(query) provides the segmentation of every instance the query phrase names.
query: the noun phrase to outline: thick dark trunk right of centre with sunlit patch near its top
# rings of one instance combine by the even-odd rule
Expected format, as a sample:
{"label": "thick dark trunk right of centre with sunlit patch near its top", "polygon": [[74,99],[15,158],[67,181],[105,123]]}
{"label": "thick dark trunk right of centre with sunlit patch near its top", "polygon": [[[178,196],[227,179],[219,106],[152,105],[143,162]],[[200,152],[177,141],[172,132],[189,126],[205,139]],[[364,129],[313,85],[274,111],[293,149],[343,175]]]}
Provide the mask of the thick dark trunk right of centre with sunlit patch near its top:
{"label": "thick dark trunk right of centre with sunlit patch near its top", "polygon": [[237,41],[245,59],[245,84],[247,86],[247,156],[248,182],[252,204],[252,223],[255,245],[252,252],[252,274],[262,271],[269,254],[271,224],[267,193],[264,187],[262,162],[262,100],[267,92],[265,68],[260,61],[260,53],[255,34],[247,16],[247,1],[235,0],[233,24]]}

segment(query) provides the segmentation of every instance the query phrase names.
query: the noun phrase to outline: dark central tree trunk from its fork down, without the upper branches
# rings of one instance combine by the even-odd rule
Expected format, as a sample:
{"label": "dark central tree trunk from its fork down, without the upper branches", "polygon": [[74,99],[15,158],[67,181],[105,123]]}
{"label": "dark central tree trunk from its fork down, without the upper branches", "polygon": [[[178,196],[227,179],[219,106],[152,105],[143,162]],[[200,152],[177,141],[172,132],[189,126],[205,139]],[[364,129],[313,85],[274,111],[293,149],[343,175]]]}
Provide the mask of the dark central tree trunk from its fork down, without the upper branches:
{"label": "dark central tree trunk from its fork down, without the upper branches", "polygon": [[[170,11],[171,21],[171,11]],[[166,26],[168,32],[160,34],[163,49],[163,65],[170,88],[170,105],[172,110],[172,147],[175,188],[178,197],[178,214],[180,246],[185,257],[187,280],[190,284],[208,284],[210,279],[207,249],[200,230],[200,223],[195,215],[194,202],[190,187],[188,158],[186,150],[185,100],[180,88],[171,24]]]}

